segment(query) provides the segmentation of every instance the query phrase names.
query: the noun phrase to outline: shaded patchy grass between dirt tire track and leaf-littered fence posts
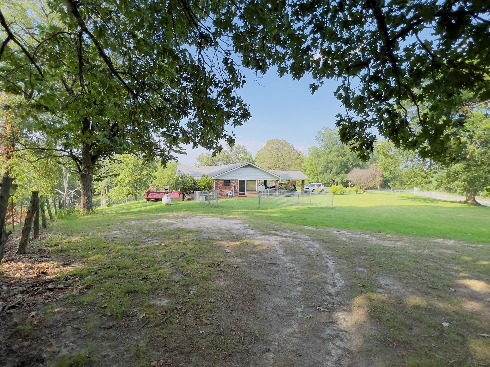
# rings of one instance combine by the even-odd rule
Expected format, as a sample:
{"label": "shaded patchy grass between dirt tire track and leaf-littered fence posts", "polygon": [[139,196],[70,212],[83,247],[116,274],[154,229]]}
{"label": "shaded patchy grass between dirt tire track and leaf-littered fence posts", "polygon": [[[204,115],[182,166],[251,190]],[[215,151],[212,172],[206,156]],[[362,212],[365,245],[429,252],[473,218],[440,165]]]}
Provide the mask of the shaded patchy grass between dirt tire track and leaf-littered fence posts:
{"label": "shaded patchy grass between dirt tire track and leaf-littered fence posts", "polygon": [[[135,360],[134,366],[148,366],[156,358],[150,351],[162,344],[178,355],[181,350],[188,353],[192,341],[199,358],[208,362],[231,355],[235,341],[220,331],[222,327],[217,325],[221,321],[216,317],[220,302],[232,295],[223,293],[217,278],[236,273],[223,257],[224,245],[203,237],[200,230],[147,223],[160,215],[152,209],[157,207],[128,204],[126,213],[98,211],[89,216],[67,216],[54,224],[54,232],[66,234],[51,234],[41,244],[49,246],[56,256],[83,264],[59,275],[60,283],[67,276],[76,276],[83,286],[82,292],[69,295],[66,302],[77,309],[95,309],[102,318],[129,325],[128,353]],[[148,210],[145,224],[133,223],[141,220],[143,210]],[[252,245],[238,241],[236,246],[245,251]],[[51,307],[45,310],[47,319],[52,318],[52,312]],[[145,321],[147,327],[140,331]],[[87,322],[85,337],[104,332],[102,327],[99,321]],[[144,341],[139,337],[135,342],[132,335],[142,332],[147,333]],[[23,331],[19,329],[18,334],[23,335]],[[106,364],[97,356],[90,355],[90,361],[84,356],[60,360],[59,366]]]}

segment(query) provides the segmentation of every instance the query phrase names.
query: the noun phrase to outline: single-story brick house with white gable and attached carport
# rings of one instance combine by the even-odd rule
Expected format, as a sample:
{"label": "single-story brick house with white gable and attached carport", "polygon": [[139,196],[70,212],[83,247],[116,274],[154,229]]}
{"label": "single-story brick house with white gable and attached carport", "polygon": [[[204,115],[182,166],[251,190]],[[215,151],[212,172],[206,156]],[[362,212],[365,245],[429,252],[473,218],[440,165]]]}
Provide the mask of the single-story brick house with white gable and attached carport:
{"label": "single-story brick house with white gable and attached carport", "polygon": [[196,179],[209,176],[220,196],[253,196],[265,188],[278,188],[280,181],[293,184],[301,181],[301,191],[304,191],[305,180],[309,180],[301,171],[269,171],[250,162],[221,166],[177,165],[177,174],[181,173]]}

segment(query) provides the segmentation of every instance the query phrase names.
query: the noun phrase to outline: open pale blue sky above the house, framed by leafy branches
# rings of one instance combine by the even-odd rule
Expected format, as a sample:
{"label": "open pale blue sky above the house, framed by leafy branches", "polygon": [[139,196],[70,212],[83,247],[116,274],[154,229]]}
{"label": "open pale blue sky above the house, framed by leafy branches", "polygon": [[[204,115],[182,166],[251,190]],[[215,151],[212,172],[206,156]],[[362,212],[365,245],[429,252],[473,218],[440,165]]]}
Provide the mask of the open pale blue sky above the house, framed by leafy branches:
{"label": "open pale blue sky above the house, framed by leafy branches", "polygon": [[[327,81],[311,95],[308,88],[311,77],[299,81],[289,75],[279,78],[275,70],[257,81],[253,73],[246,75],[247,84],[238,93],[248,104],[252,117],[232,131],[236,142],[245,145],[253,155],[271,139],[285,139],[306,154],[315,145],[317,132],[324,126],[334,127],[335,116],[344,111],[333,95],[339,85],[336,81]],[[193,165],[206,150],[187,147],[186,152],[187,155],[179,156],[179,162]]]}

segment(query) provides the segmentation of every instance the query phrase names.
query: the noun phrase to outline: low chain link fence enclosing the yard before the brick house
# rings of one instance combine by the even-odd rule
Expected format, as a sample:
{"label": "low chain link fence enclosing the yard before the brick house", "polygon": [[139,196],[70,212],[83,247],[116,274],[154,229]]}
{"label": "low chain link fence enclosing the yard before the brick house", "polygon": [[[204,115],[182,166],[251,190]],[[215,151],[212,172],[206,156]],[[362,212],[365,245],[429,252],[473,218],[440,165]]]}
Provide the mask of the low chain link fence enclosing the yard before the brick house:
{"label": "low chain link fence enclosing the yard before the brick house", "polygon": [[194,201],[233,210],[272,209],[300,206],[334,206],[330,193],[307,193],[285,190],[266,190],[247,193],[245,197],[230,195],[229,191],[194,191]]}

